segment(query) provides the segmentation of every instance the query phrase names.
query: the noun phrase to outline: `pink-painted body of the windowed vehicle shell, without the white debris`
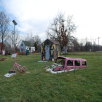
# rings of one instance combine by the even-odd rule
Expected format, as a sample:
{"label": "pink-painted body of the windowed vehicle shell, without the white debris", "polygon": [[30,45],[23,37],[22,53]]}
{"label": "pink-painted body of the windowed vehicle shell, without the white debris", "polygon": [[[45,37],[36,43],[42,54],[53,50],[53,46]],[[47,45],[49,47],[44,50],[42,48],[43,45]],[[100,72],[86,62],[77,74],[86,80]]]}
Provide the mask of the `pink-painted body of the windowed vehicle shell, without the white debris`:
{"label": "pink-painted body of the windowed vehicle shell, without the white debris", "polygon": [[86,59],[82,58],[58,57],[57,63],[60,63],[62,66],[55,67],[53,71],[80,69],[87,66]]}

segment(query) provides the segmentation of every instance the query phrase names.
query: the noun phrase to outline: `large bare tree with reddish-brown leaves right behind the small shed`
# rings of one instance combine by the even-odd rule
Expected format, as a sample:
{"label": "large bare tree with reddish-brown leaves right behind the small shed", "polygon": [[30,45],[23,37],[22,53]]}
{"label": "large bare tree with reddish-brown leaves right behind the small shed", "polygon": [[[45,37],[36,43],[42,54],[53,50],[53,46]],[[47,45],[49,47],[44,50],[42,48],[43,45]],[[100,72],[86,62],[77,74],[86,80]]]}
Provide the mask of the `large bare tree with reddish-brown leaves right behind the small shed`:
{"label": "large bare tree with reddish-brown leaves right behind the small shed", "polygon": [[72,22],[72,17],[69,16],[67,20],[64,19],[64,15],[58,15],[53,23],[50,25],[47,31],[47,35],[50,39],[58,40],[61,49],[67,47],[71,33],[76,30],[75,24]]}

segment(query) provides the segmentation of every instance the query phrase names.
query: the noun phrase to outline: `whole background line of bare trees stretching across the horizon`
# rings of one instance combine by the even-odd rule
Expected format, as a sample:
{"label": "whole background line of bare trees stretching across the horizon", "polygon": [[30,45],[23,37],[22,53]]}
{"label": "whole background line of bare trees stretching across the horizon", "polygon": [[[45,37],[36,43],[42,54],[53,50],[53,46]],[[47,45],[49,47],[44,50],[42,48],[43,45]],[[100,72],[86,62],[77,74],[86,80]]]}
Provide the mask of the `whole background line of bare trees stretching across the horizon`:
{"label": "whole background line of bare trees stretching across the horizon", "polygon": [[[47,29],[47,38],[57,40],[60,44],[61,52],[67,53],[68,51],[101,51],[102,46],[92,44],[87,41],[85,44],[79,43],[78,40],[72,36],[77,29],[73,22],[73,17],[68,16],[65,19],[63,14],[57,15]],[[0,42],[2,42],[1,51],[3,50],[3,43],[6,40],[14,41],[13,28],[10,26],[10,19],[5,12],[0,11]],[[16,32],[16,42],[19,38]],[[38,35],[30,36],[25,39],[31,46],[34,46],[36,51],[40,51],[41,39]]]}

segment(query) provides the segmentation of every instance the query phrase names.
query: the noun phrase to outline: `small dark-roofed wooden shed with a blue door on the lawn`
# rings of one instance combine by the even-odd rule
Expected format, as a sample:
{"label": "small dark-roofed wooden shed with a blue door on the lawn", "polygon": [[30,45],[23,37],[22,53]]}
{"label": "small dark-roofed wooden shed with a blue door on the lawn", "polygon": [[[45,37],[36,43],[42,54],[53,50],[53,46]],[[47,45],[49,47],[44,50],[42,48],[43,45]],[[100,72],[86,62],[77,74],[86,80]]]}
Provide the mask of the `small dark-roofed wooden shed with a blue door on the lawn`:
{"label": "small dark-roofed wooden shed with a blue door on the lawn", "polygon": [[60,54],[60,45],[58,41],[46,39],[41,46],[42,60],[56,60]]}

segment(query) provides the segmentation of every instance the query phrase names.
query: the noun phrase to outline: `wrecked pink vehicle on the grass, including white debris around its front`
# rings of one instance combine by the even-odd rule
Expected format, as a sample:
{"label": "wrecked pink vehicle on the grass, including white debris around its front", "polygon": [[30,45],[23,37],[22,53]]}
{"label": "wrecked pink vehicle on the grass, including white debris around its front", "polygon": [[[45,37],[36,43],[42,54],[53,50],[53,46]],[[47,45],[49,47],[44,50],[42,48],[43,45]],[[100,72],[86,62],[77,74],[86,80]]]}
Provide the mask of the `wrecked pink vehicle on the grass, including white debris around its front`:
{"label": "wrecked pink vehicle on the grass, including white debris around its front", "polygon": [[86,66],[87,66],[86,59],[58,57],[57,63],[54,63],[50,67],[47,67],[46,71],[56,74],[56,73],[74,71],[76,69],[85,68]]}

